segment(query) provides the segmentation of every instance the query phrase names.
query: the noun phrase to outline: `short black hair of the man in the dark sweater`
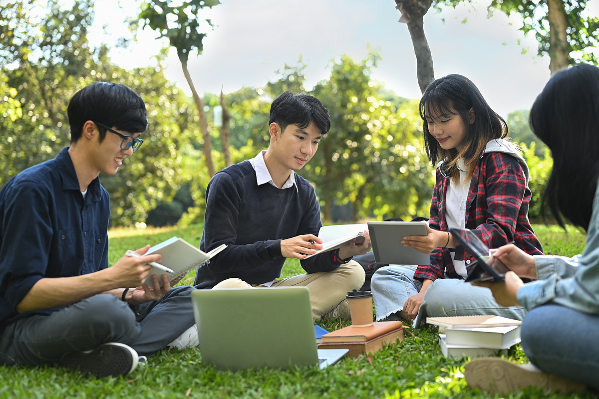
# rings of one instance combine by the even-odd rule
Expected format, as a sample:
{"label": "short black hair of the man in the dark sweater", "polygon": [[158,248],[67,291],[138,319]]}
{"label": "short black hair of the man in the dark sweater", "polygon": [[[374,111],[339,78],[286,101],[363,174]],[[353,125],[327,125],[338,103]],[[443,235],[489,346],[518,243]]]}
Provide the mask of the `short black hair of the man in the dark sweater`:
{"label": "short black hair of the man in the dark sweater", "polygon": [[300,129],[305,129],[314,123],[324,136],[331,129],[331,117],[328,109],[319,99],[304,93],[282,93],[270,105],[270,118],[268,124],[276,122],[285,130],[290,124],[297,124]]}

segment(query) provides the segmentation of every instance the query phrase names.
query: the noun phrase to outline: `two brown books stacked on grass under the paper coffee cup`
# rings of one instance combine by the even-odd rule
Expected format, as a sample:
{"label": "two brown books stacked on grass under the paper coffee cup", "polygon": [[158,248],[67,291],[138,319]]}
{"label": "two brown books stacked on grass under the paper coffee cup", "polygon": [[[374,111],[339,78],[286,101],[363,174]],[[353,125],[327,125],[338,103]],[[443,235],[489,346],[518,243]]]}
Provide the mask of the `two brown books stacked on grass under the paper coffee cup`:
{"label": "two brown books stacked on grass under the paper coffee cup", "polygon": [[404,326],[401,321],[379,321],[368,327],[340,328],[323,334],[318,349],[349,349],[348,356],[358,357],[361,354],[379,351],[385,343],[402,342]]}

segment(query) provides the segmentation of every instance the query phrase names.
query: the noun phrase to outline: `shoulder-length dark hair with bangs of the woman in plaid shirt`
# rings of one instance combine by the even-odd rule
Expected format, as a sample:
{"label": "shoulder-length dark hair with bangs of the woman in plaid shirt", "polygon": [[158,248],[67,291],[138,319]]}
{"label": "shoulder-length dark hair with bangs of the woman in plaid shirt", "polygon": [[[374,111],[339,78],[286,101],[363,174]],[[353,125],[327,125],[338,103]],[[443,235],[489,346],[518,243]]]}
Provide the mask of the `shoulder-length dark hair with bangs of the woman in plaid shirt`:
{"label": "shoulder-length dark hair with bangs of the woman in plaid shirt", "polygon": [[[422,136],[428,159],[433,166],[439,158],[447,159],[443,167],[446,174],[454,178],[458,176],[456,163],[459,158],[464,157],[464,163],[471,175],[485,150],[485,145],[493,139],[507,136],[506,121],[491,109],[474,83],[462,75],[447,75],[429,84],[422,94],[419,109],[420,117],[424,121]],[[474,110],[472,124],[468,115],[470,109]],[[461,153],[455,148],[447,151],[440,147],[437,139],[428,131],[427,113],[429,116],[459,115],[462,118],[466,134]]]}

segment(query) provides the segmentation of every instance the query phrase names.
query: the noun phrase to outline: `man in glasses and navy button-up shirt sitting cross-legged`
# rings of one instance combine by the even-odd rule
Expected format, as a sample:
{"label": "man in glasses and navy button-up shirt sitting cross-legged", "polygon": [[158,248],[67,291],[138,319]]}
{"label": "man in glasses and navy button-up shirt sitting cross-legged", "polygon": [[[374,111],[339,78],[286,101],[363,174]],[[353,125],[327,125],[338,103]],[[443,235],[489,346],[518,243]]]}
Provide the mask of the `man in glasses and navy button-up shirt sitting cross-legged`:
{"label": "man in glasses and navy button-up shirt sitting cross-legged", "polygon": [[[108,193],[143,143],[146,105],[121,84],[96,82],[68,105],[71,145],[0,191],[0,364],[131,373],[193,327],[190,293],[168,276],[144,284],[160,255],[108,267]],[[135,287],[135,288],[128,288]]]}

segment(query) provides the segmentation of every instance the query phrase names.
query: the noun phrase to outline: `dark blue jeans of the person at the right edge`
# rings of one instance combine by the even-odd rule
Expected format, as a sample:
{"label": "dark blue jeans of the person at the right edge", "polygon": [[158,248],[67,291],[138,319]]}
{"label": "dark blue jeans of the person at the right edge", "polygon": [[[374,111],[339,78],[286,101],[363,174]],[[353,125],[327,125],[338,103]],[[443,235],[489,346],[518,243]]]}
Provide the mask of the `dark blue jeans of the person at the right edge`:
{"label": "dark blue jeans of the person at the right edge", "polygon": [[522,349],[535,366],[599,389],[599,316],[545,304],[522,321]]}

